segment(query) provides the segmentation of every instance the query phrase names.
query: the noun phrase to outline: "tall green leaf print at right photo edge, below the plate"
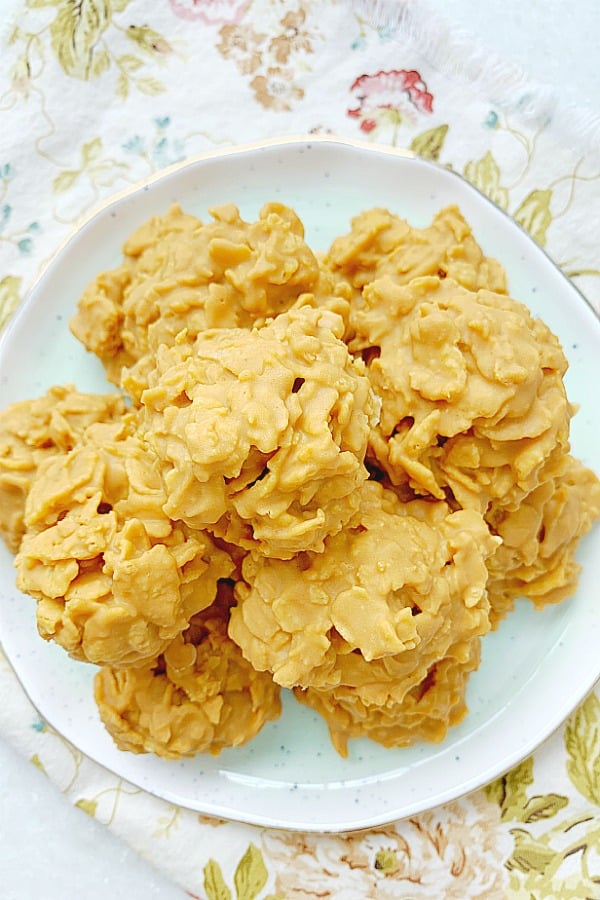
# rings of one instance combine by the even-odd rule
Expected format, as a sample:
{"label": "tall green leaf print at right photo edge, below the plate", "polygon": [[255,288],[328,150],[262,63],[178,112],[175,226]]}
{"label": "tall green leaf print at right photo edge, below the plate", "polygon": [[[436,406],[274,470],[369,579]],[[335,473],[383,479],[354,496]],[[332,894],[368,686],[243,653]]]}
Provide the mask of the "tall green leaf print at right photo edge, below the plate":
{"label": "tall green leaf print at right photo edge, below the plate", "polygon": [[590,694],[565,728],[567,773],[586,800],[600,806],[600,700]]}

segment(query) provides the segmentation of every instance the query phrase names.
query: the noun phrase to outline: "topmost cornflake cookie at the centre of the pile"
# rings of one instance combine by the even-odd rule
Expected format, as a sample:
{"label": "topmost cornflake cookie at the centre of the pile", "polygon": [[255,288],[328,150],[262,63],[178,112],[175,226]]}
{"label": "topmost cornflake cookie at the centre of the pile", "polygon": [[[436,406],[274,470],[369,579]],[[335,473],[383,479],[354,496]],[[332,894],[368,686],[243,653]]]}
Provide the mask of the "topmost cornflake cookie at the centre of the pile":
{"label": "topmost cornflake cookie at the centre of the pile", "polygon": [[323,548],[357,509],[377,409],[343,331],[301,306],[159,349],[143,429],[167,515],[281,559]]}

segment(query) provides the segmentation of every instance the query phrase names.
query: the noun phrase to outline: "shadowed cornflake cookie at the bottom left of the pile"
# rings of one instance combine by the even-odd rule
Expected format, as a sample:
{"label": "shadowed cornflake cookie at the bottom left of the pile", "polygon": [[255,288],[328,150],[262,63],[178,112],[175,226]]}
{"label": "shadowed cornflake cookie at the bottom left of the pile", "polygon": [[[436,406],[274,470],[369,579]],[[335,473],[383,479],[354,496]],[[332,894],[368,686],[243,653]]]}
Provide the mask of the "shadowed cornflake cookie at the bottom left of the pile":
{"label": "shadowed cornflake cookie at the bottom left of the pile", "polygon": [[105,667],[96,675],[100,717],[120,750],[167,759],[216,756],[278,718],[279,688],[229,640],[227,614],[226,604],[215,603],[158,659],[136,669]]}

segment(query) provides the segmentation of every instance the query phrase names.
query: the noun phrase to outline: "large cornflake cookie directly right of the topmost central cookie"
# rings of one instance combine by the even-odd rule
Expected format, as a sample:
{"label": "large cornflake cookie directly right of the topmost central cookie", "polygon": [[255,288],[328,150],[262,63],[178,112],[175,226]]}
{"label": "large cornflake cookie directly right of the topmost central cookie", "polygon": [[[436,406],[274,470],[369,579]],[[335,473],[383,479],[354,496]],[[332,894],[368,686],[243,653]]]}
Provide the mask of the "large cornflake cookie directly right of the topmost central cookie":
{"label": "large cornflake cookie directly right of the topmost central cookie", "polygon": [[449,278],[381,279],[350,320],[382,399],[371,453],[394,484],[485,513],[517,506],[568,448],[566,359],[517,301]]}

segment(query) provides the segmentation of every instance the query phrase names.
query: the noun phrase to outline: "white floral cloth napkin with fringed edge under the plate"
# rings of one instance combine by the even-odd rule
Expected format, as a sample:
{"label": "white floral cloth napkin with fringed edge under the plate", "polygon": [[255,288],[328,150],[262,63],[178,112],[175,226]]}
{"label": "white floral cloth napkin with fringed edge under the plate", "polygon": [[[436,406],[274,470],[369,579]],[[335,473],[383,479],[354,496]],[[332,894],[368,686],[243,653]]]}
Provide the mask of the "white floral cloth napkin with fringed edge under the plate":
{"label": "white floral cloth napkin with fringed edge under the plate", "polygon": [[[0,325],[111,194],[205,150],[299,134],[408,147],[451,166],[600,310],[598,120],[418,2],[12,7],[0,69]],[[2,736],[192,896],[600,897],[598,692],[486,789],[342,835],[226,823],[134,788],[39,718],[1,653],[0,696]]]}

